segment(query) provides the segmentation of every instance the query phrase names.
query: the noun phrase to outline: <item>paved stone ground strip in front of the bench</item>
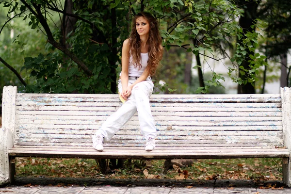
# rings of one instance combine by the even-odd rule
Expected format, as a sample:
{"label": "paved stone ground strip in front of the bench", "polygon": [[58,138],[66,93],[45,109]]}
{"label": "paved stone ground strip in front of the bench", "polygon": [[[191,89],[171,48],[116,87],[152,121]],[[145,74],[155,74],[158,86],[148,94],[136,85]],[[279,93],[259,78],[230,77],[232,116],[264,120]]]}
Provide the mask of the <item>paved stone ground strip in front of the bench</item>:
{"label": "paved stone ground strip in front of the bench", "polygon": [[[273,187],[273,188],[272,188]],[[1,193],[17,194],[291,194],[281,181],[17,178]]]}

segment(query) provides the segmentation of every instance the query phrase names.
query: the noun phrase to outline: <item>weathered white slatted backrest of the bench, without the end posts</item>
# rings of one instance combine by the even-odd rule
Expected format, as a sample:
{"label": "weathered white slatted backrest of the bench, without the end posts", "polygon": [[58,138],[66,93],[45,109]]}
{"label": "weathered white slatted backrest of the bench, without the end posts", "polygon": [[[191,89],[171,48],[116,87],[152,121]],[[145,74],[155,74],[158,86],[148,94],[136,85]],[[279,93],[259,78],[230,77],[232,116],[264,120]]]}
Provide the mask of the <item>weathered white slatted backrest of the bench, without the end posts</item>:
{"label": "weathered white slatted backrest of the bench, without the end posts", "polygon": [[[152,95],[157,146],[283,146],[277,95]],[[118,95],[16,94],[15,146],[92,146]],[[106,146],[145,146],[137,113]]]}

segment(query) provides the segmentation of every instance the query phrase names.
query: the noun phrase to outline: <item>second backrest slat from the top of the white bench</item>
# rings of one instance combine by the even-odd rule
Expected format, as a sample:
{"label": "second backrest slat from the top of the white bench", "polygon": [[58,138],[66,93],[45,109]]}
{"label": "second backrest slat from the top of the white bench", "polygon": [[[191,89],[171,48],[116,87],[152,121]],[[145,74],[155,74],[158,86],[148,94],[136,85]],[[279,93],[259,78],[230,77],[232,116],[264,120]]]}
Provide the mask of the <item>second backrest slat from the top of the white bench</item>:
{"label": "second backrest slat from the top of the white bench", "polygon": [[[75,101],[16,101],[20,106],[113,106],[120,107],[121,102],[75,102]],[[260,107],[277,108],[281,103],[150,103],[152,107]]]}

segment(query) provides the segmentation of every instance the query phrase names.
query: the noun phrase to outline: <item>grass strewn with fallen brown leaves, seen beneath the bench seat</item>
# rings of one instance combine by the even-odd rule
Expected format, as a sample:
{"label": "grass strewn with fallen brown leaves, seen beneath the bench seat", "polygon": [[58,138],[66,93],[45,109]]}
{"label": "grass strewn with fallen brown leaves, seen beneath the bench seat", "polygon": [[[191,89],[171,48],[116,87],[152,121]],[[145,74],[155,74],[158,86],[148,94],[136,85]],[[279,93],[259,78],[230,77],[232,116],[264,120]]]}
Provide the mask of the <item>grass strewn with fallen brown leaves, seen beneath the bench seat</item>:
{"label": "grass strewn with fallen brown leaves, seen beneath the bench seat", "polygon": [[144,161],[126,161],[125,168],[103,175],[93,159],[17,158],[16,176],[136,179],[146,178],[144,170],[147,169],[152,178],[282,180],[282,159],[278,158],[193,160],[191,166],[174,166],[165,175],[162,174],[163,162],[153,160],[152,166],[146,167]]}

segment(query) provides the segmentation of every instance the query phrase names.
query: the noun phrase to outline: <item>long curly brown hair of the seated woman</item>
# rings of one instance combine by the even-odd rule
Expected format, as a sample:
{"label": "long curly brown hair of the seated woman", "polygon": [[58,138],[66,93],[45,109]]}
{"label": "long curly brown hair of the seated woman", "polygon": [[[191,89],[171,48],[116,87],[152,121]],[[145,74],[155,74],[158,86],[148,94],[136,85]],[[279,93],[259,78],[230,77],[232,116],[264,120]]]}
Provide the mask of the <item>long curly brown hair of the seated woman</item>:
{"label": "long curly brown hair of the seated woman", "polygon": [[141,39],[140,35],[136,31],[136,19],[138,17],[144,17],[149,23],[149,38],[147,43],[148,47],[148,61],[147,71],[151,76],[155,75],[156,69],[162,60],[162,37],[159,32],[159,22],[151,14],[147,12],[140,12],[132,19],[131,33],[129,36],[130,54],[132,56],[132,63],[134,67],[141,68]]}

